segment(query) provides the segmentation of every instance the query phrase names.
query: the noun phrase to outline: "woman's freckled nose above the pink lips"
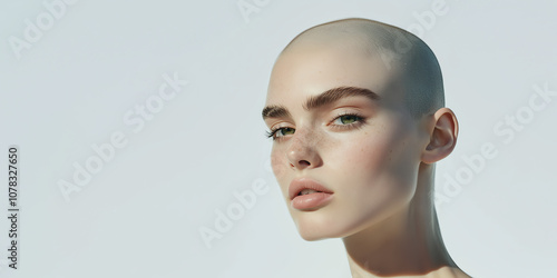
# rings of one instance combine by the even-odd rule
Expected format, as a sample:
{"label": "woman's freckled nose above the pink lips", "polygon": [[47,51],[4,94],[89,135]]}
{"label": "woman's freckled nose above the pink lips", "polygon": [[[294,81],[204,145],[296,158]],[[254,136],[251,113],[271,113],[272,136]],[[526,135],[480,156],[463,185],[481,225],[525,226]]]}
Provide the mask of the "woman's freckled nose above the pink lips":
{"label": "woman's freckled nose above the pink lips", "polygon": [[314,133],[296,129],[286,150],[290,167],[299,170],[320,167],[323,161],[317,152],[317,142]]}

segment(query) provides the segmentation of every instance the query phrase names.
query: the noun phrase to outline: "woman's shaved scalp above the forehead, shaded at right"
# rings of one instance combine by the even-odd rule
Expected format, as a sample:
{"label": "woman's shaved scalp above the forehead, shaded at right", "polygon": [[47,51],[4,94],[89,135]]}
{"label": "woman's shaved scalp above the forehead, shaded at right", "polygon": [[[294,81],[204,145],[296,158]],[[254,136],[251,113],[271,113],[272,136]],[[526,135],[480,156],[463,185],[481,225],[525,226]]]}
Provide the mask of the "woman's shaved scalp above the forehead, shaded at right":
{"label": "woman's shaved scalp above the forehead, shaded at right", "polygon": [[380,58],[387,70],[400,72],[404,102],[417,118],[444,106],[442,76],[436,56],[420,38],[405,30],[362,18],[335,20],[296,36],[278,59],[320,47],[349,49],[362,57]]}

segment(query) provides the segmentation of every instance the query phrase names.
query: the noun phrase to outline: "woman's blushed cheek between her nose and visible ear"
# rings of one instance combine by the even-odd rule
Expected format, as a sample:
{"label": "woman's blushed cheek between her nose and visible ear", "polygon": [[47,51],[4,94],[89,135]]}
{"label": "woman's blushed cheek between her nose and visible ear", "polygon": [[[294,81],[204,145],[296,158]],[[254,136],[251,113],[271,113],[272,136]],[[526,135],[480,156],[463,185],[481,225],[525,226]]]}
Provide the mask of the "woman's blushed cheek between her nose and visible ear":
{"label": "woman's blushed cheek between her nose and visible ear", "polygon": [[350,188],[348,199],[381,203],[411,198],[418,166],[411,140],[403,131],[381,129],[343,145],[332,161],[343,169],[339,175],[345,177],[342,186]]}

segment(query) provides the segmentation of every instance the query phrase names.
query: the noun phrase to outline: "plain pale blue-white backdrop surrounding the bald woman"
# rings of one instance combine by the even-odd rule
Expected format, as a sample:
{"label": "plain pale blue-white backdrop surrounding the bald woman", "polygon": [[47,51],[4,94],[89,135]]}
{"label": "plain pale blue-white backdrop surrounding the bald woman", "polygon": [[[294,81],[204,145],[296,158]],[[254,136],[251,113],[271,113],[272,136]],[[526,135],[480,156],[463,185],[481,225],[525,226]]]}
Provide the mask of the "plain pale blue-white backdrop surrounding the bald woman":
{"label": "plain pale blue-white backdrop surrounding the bald woman", "polygon": [[[284,46],[350,17],[414,32],[441,63],[460,137],[438,163],[436,189],[456,262],[473,277],[550,277],[556,8],[3,0],[0,277],[350,277],[340,239],[299,236],[261,119]],[[11,145],[17,270],[8,258]],[[250,192],[254,201],[242,202]]]}

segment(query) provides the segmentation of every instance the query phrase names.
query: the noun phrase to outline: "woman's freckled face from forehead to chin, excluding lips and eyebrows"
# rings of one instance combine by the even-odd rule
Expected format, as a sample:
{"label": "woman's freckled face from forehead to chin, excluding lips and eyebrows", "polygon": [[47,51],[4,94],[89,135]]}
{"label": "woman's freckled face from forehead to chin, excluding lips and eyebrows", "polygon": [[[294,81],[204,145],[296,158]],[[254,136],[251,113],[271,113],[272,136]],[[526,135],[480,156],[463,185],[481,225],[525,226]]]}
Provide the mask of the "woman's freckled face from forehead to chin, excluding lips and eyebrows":
{"label": "woman's freckled face from forehead to chin, excluding lips and eyebrows", "polygon": [[[338,87],[378,98],[351,95],[304,109],[309,98]],[[276,61],[265,105],[289,113],[265,119],[274,131],[271,161],[304,239],[346,237],[408,206],[426,141],[404,106],[404,89],[401,72],[381,56],[345,46],[296,46]],[[312,180],[332,193],[296,207],[289,196],[293,180]]]}

